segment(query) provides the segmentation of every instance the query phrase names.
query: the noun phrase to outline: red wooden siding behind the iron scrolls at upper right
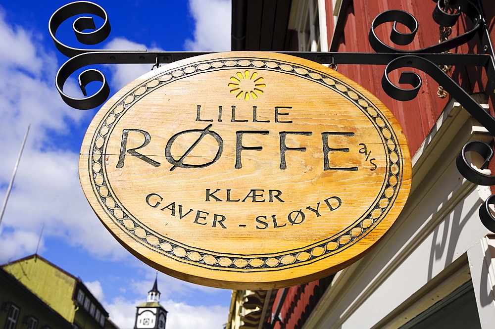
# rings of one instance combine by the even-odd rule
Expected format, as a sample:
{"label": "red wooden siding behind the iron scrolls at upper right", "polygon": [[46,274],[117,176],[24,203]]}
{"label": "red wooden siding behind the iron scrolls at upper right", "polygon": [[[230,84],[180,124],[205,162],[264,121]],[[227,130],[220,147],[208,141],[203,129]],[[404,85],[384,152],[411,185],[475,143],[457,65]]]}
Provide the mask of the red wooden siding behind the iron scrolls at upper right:
{"label": "red wooden siding behind the iron scrolls at upper right", "polygon": [[[414,15],[419,22],[419,29],[412,44],[394,46],[389,41],[393,23],[383,24],[376,31],[384,42],[390,46],[406,50],[435,45],[439,42],[439,26],[432,18],[432,11],[435,5],[436,3],[433,1],[355,0],[347,7],[344,33],[339,38],[338,51],[374,52],[368,43],[371,22],[378,14],[390,9],[400,9]],[[493,11],[493,5],[491,8]],[[493,13],[491,14],[493,16]],[[457,36],[471,27],[469,19],[462,17],[453,27],[451,37]],[[401,32],[407,32],[407,29],[403,26],[399,26],[398,29]],[[452,49],[452,52],[479,53],[481,52],[480,47],[476,37],[468,45]],[[437,96],[438,84],[433,79],[417,70],[406,69],[418,72],[423,80],[423,86],[415,99],[405,102],[397,101],[385,94],[381,87],[384,70],[384,65],[339,65],[340,73],[371,91],[394,113],[405,132],[411,155],[414,155],[442,113],[450,95],[445,99],[439,98]],[[398,81],[400,71],[396,70],[391,73],[390,77],[393,81]],[[467,91],[479,92],[480,82],[483,82],[482,79],[478,78],[480,71],[481,69],[454,67],[452,68],[451,76],[459,81]],[[403,88],[407,88],[407,86],[404,85]]]}

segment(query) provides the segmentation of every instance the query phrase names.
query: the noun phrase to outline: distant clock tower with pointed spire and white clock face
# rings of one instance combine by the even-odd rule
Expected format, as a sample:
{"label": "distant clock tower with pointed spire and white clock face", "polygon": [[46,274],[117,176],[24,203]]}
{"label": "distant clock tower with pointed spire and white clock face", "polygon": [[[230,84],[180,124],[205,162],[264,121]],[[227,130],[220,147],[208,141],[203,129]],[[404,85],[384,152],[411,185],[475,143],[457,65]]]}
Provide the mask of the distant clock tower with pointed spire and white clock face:
{"label": "distant clock tower with pointed spire and white clock face", "polygon": [[165,329],[167,311],[160,305],[160,291],[157,278],[153,288],[148,291],[146,303],[137,306],[134,329]]}

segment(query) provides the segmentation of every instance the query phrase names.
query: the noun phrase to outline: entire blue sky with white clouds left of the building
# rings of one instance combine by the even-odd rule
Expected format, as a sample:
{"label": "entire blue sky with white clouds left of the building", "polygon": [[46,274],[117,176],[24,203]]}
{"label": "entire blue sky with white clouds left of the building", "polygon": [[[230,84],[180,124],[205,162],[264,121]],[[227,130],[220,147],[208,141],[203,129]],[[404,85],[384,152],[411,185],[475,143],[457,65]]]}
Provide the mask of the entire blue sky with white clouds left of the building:
{"label": "entire blue sky with white clouds left of the building", "polygon": [[[69,1],[0,2],[0,198],[3,200],[28,124],[26,148],[3,221],[0,263],[36,250],[80,277],[121,329],[134,326],[135,306],[146,299],[155,270],[121,247],[100,224],[79,185],[78,156],[95,110],[65,105],[54,77],[67,59],[48,33],[51,14]],[[94,48],[211,51],[230,49],[229,0],[96,1],[108,13],[112,32]],[[57,37],[73,47],[72,19]],[[98,22],[98,21],[97,21]],[[100,69],[111,94],[146,73],[150,65]],[[65,91],[80,96],[71,77]],[[158,275],[167,328],[221,328],[230,290],[203,287]]]}

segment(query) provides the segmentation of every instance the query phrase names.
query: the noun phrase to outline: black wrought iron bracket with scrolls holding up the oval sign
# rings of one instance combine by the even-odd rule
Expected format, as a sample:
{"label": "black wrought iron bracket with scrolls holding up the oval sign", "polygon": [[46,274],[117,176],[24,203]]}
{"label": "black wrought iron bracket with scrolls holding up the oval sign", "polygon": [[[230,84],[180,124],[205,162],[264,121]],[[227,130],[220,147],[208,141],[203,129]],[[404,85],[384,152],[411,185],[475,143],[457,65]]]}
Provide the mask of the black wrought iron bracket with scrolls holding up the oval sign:
{"label": "black wrought iron bracket with scrolls holding up the oval sign", "polygon": [[[416,50],[404,51],[388,46],[375,33],[375,29],[381,24],[394,22],[390,39],[396,45],[410,44],[418,30],[416,18],[402,10],[388,10],[379,14],[372,22],[368,40],[376,51],[375,53],[360,52],[285,52],[281,53],[309,59],[321,64],[357,64],[357,65],[386,65],[382,78],[384,91],[397,100],[410,100],[418,94],[422,80],[414,72],[402,72],[399,83],[408,84],[410,89],[397,87],[390,79],[390,72],[402,68],[415,68],[433,78],[444,89],[455,95],[458,101],[480,124],[482,124],[492,136],[495,136],[495,119],[488,113],[471,95],[464,91],[450,76],[448,76],[439,66],[479,66],[485,69],[488,76],[488,84],[485,92],[492,99],[495,99],[495,60],[494,48],[490,40],[486,21],[482,11],[470,0],[449,0],[448,5],[453,8],[452,13],[448,13],[444,0],[433,0],[436,6],[433,11],[434,20],[441,26],[453,26],[461,13],[469,18],[473,28],[461,35],[443,41],[439,44],[424,47]],[[92,64],[158,64],[171,63],[177,60],[198,56],[210,52],[152,52],[146,50],[105,50],[105,49],[84,49],[74,48],[64,45],[56,39],[56,32],[65,20],[84,14],[92,14],[103,19],[103,24],[96,28],[92,17],[81,16],[74,20],[72,29],[77,40],[84,45],[96,45],[105,40],[110,33],[110,23],[105,10],[98,4],[89,1],[77,1],[66,4],[56,10],[49,20],[49,32],[55,47],[69,59],[62,64],[56,75],[56,88],[62,99],[71,107],[77,109],[91,109],[101,105],[109,96],[110,88],[105,76],[99,70],[89,69],[79,74],[79,86],[85,97],[76,98],[63,92],[63,86],[67,79],[76,71]],[[396,29],[397,23],[405,25],[409,33],[401,33]],[[85,30],[93,30],[84,32]],[[478,36],[483,47],[481,54],[457,54],[443,53],[449,49],[461,46]],[[99,81],[101,87],[92,94],[87,95],[86,86],[90,82]],[[495,176],[490,176],[474,170],[467,161],[466,152],[474,151],[485,157],[485,165],[493,156],[489,152],[492,147],[484,142],[476,141],[466,144],[457,157],[457,167],[459,172],[469,181],[479,185],[495,185]],[[480,218],[483,224],[495,233],[495,217],[489,211],[489,204],[495,204],[495,197],[492,195],[480,208]]]}

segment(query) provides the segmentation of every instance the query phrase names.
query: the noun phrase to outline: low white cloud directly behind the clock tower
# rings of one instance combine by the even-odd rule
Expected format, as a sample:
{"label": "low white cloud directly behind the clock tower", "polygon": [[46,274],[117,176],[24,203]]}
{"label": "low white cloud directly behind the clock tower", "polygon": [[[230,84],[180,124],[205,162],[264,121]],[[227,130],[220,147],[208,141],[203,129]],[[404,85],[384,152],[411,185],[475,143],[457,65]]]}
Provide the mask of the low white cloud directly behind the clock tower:
{"label": "low white cloud directly behind the clock tower", "polygon": [[[103,306],[120,329],[134,328],[136,306],[144,300],[129,301],[123,297],[115,298],[112,303]],[[172,300],[161,300],[160,304],[168,311],[166,328],[173,329],[220,329],[227,322],[228,307],[192,306]]]}

